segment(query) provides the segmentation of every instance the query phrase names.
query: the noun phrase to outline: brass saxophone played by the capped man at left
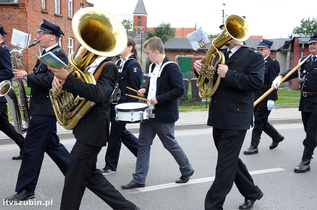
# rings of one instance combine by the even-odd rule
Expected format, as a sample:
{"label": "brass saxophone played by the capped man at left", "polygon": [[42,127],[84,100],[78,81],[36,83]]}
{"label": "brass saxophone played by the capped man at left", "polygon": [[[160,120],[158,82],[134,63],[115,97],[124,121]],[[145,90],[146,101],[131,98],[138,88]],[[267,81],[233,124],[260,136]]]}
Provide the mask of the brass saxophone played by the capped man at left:
{"label": "brass saxophone played by the capped man at left", "polygon": [[[39,41],[32,42],[29,47],[35,46]],[[12,49],[11,62],[12,69],[23,70],[22,51],[24,49]],[[9,80],[4,80],[0,83],[0,96],[4,96],[10,107],[10,112],[13,120],[14,128],[17,133],[26,133],[29,127],[29,105],[27,95],[22,79],[13,79],[17,84],[17,94],[11,86]]]}

